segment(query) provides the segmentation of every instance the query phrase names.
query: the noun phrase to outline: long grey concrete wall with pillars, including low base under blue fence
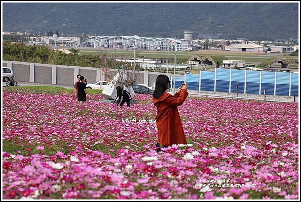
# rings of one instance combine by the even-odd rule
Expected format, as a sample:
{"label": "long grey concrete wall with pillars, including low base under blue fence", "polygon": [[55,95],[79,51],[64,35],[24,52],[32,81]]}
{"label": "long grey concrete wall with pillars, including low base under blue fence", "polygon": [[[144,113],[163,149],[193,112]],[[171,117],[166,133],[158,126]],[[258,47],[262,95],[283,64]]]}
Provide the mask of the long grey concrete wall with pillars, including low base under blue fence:
{"label": "long grey concrete wall with pillars, including low base under blue fence", "polygon": [[[78,66],[65,66],[65,65],[50,65],[50,64],[37,64],[37,63],[26,63],[16,61],[4,61],[3,66],[11,67],[14,72],[15,79],[23,82],[36,82],[46,84],[58,84],[65,86],[73,86],[74,82],[77,81],[76,75],[81,74],[87,78],[88,83],[95,83],[100,79],[101,69],[94,67],[78,67]],[[128,71],[128,74],[132,74],[132,71]],[[137,83],[144,83],[149,87],[153,87],[153,83],[156,82],[158,75],[164,74],[159,72],[148,72],[141,71],[137,74]],[[165,74],[169,78],[173,74]],[[180,75],[176,75],[180,76]],[[106,77],[104,78],[106,80]],[[205,91],[193,91],[190,90],[191,95],[203,94],[205,96],[220,95],[225,97],[236,97],[234,93],[221,93],[221,92],[205,92]],[[263,99],[263,95],[254,94],[239,94],[241,98],[253,98]],[[293,96],[266,96],[267,100],[278,100],[291,102]],[[298,97],[296,98],[298,100]]]}

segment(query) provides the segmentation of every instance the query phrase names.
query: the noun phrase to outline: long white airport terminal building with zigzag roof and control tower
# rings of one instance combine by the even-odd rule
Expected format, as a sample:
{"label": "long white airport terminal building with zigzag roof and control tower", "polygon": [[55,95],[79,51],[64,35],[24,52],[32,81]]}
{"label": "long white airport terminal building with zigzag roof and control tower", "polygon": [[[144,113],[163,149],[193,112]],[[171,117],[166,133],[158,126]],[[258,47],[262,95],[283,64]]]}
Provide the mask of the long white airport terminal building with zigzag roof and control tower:
{"label": "long white airport terminal building with zigzag roof and control tower", "polygon": [[[191,39],[191,32],[185,33],[186,39]],[[176,43],[174,43],[176,42]],[[94,48],[119,48],[133,49],[136,48],[147,50],[173,50],[176,44],[178,51],[189,50],[189,40],[179,40],[175,38],[160,37],[139,37],[134,36],[93,36],[85,39],[83,43],[90,44]]]}

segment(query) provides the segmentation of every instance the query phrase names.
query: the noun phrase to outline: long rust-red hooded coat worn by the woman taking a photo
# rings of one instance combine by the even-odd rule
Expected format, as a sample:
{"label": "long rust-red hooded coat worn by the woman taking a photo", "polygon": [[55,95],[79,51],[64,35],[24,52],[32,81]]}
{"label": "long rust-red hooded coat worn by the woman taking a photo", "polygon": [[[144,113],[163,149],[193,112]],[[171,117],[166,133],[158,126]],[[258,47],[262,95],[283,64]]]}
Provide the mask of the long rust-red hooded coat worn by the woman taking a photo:
{"label": "long rust-red hooded coat worn by the woman taking a photo", "polygon": [[158,143],[164,146],[172,144],[187,144],[177,106],[183,104],[188,96],[184,89],[174,96],[164,92],[159,99],[153,98],[157,107],[156,123],[158,128]]}

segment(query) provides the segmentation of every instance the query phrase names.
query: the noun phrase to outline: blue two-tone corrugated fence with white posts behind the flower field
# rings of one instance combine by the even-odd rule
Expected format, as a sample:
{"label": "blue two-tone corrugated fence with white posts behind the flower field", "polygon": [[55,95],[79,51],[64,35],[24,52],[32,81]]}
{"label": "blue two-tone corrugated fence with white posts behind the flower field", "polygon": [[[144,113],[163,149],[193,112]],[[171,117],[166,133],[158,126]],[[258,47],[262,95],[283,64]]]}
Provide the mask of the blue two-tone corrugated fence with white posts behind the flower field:
{"label": "blue two-tone corrugated fence with white posts behind the flower field", "polygon": [[176,76],[175,88],[183,82],[188,84],[190,90],[231,93],[238,91],[238,93],[261,95],[265,90],[266,95],[299,96],[299,74],[290,72],[217,68],[215,72],[200,71],[200,74]]}

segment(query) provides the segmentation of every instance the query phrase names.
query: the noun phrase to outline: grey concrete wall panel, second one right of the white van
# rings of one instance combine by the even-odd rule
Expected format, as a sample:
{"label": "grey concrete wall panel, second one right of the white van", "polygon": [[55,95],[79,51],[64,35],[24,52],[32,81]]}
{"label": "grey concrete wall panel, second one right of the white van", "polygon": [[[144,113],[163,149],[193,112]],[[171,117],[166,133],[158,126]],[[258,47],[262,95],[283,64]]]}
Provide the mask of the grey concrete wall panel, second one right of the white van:
{"label": "grey concrete wall panel, second one right of the white van", "polygon": [[51,66],[35,65],[34,82],[51,84],[51,74],[52,74]]}

